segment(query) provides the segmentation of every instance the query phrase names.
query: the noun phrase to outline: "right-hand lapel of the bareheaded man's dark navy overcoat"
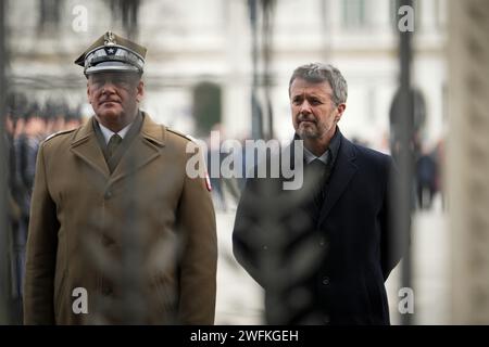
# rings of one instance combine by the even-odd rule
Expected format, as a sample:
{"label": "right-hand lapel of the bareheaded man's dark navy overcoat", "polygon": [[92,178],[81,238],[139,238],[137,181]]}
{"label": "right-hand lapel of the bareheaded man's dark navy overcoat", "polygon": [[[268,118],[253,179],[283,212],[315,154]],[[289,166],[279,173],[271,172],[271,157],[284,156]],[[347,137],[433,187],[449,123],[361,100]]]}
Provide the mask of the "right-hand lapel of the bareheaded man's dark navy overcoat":
{"label": "right-hand lapel of the bareheaded man's dark navy overcoat", "polygon": [[348,183],[351,181],[358,170],[355,162],[355,149],[353,144],[341,136],[341,144],[338,151],[338,157],[336,159],[335,167],[329,178],[329,183],[326,189],[326,198],[321,209],[318,224],[322,224],[333,206],[335,206],[338,198],[347,189]]}

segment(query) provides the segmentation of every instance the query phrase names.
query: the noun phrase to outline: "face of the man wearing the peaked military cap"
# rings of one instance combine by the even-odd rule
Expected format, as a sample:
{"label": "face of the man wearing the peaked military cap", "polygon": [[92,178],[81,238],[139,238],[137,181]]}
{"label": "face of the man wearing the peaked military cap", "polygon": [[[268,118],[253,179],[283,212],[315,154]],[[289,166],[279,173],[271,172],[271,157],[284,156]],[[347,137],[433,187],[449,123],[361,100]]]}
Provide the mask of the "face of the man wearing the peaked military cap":
{"label": "face of the man wearing the peaked military cap", "polygon": [[96,73],[88,77],[87,95],[101,120],[124,121],[136,114],[143,83],[133,73]]}

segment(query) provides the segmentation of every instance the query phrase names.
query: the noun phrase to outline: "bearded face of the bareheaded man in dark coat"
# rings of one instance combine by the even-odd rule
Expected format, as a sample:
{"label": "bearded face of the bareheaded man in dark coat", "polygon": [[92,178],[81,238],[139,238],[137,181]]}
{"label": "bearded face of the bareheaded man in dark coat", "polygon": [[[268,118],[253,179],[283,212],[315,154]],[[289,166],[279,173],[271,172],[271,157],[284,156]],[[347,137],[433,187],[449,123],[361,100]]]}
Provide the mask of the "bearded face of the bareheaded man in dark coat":
{"label": "bearded face of the bareheaded man in dark coat", "polygon": [[330,139],[346,104],[336,105],[328,82],[312,83],[296,78],[290,86],[290,107],[296,132],[303,140]]}

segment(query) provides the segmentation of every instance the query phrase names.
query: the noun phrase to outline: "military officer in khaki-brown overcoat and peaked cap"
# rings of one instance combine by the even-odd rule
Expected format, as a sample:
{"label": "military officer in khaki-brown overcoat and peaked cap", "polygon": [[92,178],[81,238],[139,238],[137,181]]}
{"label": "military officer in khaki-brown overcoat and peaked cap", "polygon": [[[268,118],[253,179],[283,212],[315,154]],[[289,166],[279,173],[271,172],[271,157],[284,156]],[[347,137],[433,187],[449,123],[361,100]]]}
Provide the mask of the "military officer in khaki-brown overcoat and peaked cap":
{"label": "military officer in khaki-brown overcoat and peaked cap", "polygon": [[111,31],[75,63],[95,116],[37,157],[27,324],[212,324],[216,230],[189,139],[139,110],[146,49]]}

